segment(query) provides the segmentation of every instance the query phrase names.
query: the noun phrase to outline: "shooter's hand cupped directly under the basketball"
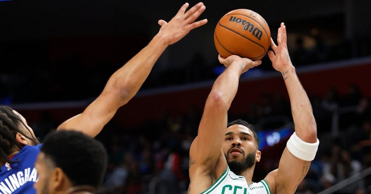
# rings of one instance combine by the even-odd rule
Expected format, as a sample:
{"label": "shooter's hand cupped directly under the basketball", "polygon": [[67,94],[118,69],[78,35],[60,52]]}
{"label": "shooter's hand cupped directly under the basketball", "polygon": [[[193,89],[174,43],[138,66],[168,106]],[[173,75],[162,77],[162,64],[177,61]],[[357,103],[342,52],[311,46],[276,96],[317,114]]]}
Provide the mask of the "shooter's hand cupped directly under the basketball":
{"label": "shooter's hand cupped directly under the basketball", "polygon": [[261,60],[253,61],[248,58],[241,58],[237,55],[231,55],[227,58],[223,58],[222,56],[218,55],[219,62],[226,67],[229,67],[232,63],[237,63],[241,67],[241,74],[245,73],[247,70],[256,67],[262,64]]}

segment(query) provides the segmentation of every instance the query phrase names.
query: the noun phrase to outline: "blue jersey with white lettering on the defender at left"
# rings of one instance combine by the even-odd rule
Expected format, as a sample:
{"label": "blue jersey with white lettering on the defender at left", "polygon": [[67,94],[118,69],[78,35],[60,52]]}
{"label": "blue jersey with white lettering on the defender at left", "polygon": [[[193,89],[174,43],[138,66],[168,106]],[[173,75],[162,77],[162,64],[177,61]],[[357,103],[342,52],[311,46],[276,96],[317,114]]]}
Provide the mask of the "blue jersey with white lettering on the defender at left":
{"label": "blue jersey with white lettering on the defender at left", "polygon": [[34,165],[40,148],[41,144],[25,146],[11,159],[19,162],[1,166],[0,194],[36,194],[34,183],[39,176]]}

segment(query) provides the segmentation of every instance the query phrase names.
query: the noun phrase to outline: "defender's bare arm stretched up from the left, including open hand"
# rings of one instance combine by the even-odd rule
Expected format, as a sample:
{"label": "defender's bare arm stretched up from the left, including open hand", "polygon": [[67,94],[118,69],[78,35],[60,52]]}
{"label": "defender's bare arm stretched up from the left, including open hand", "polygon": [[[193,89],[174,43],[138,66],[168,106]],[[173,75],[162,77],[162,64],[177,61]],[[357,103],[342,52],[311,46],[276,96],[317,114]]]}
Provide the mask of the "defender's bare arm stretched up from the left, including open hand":
{"label": "defender's bare arm stretched up from the left, including open hand", "polygon": [[75,129],[96,136],[118,108],[138,92],[166,47],[207,23],[206,19],[195,22],[205,10],[202,2],[186,11],[187,8],[188,3],[185,3],[169,22],[159,20],[161,28],[148,45],[109,78],[102,93],[83,113],[64,121],[57,129]]}

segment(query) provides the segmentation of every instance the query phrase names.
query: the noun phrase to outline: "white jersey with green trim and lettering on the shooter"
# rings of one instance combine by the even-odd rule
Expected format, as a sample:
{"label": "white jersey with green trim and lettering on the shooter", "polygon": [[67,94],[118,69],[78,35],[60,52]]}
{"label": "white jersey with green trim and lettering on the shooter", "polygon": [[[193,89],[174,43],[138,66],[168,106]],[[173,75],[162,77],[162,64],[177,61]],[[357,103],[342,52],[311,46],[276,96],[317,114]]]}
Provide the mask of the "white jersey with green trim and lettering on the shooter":
{"label": "white jersey with green trim and lettering on the shooter", "polygon": [[248,185],[245,177],[234,174],[229,166],[219,179],[201,194],[271,194],[265,180]]}

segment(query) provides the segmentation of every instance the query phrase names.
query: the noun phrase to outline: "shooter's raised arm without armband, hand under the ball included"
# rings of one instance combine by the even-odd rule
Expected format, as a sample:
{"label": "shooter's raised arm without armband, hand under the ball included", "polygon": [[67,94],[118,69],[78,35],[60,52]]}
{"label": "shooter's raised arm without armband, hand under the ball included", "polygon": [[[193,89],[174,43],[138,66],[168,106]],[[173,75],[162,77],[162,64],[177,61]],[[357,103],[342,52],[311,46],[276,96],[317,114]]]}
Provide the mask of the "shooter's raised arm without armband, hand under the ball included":
{"label": "shooter's raised arm without armband, hand under the ball included", "polygon": [[[241,74],[261,64],[260,60],[251,61],[236,55],[231,55],[226,59],[219,56],[219,61],[227,68],[216,79],[207,97],[198,134],[189,151],[190,184],[205,183],[204,180],[197,180],[205,177],[211,178],[210,184],[192,188],[206,189],[215,181],[213,179],[220,176],[226,169],[227,161],[221,148],[227,131],[227,112],[237,92]],[[222,160],[218,160],[219,158]],[[221,167],[216,168],[216,165]],[[192,191],[192,193],[200,192],[202,191]]]}

